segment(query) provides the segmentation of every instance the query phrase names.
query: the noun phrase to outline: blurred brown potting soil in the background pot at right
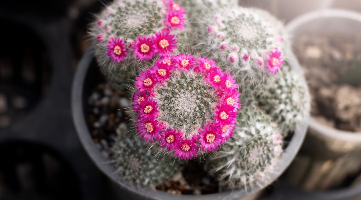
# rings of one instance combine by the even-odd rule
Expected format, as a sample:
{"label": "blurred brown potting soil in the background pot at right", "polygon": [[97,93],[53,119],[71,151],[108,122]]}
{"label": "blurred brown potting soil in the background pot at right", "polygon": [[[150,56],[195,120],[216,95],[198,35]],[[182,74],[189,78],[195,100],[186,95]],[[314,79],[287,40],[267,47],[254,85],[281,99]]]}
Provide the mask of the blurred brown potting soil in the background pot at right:
{"label": "blurred brown potting soil in the background pot at right", "polygon": [[312,95],[311,115],[345,131],[361,131],[361,34],[303,35],[293,43]]}

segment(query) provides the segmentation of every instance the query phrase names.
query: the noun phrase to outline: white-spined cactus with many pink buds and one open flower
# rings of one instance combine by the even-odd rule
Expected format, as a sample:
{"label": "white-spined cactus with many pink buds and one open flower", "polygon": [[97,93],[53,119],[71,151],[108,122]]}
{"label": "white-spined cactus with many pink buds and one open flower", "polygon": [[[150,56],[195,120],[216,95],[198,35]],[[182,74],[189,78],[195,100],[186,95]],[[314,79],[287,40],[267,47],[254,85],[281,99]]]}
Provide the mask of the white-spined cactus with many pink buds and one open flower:
{"label": "white-spined cactus with many pink buds and one open flower", "polygon": [[199,17],[198,37],[192,42],[203,56],[234,74],[242,87],[258,84],[279,71],[286,46],[282,25],[267,16],[252,8],[214,10]]}

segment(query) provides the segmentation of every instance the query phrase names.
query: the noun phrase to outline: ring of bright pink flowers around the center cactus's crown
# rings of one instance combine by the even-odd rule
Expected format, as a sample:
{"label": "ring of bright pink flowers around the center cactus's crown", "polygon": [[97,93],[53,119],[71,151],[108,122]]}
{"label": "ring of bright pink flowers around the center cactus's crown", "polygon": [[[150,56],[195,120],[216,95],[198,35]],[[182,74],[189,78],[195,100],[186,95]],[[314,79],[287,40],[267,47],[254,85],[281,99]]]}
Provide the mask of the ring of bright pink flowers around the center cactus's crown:
{"label": "ring of bright pink flowers around the center cactus's crown", "polygon": [[[180,54],[180,55],[177,55],[178,57],[179,56],[183,56],[183,54]],[[176,129],[166,129],[165,128],[165,125],[164,124],[162,124],[162,123],[159,123],[157,120],[156,120],[156,118],[158,117],[158,110],[157,110],[157,108],[158,108],[158,105],[157,105],[157,103],[155,102],[155,101],[153,101],[153,97],[155,96],[155,92],[154,91],[152,91],[153,90],[153,88],[154,88],[154,86],[159,82],[160,84],[164,84],[164,80],[163,81],[160,81],[160,80],[158,80],[157,78],[155,78],[155,70],[157,70],[157,69],[159,69],[159,67],[157,66],[157,65],[161,65],[161,63],[164,61],[164,60],[170,60],[170,62],[172,63],[170,66],[168,66],[169,67],[169,74],[167,74],[168,75],[168,78],[167,79],[169,79],[170,78],[170,74],[171,74],[171,72],[173,72],[174,70],[190,70],[191,68],[193,68],[194,69],[194,72],[196,73],[196,74],[198,74],[198,75],[203,75],[204,77],[206,77],[206,81],[209,83],[209,85],[211,86],[212,85],[212,81],[210,80],[210,78],[209,78],[209,75],[210,75],[210,71],[211,70],[209,70],[209,72],[207,73],[207,72],[205,72],[203,69],[201,69],[201,67],[200,67],[200,65],[202,64],[202,61],[201,61],[201,59],[204,61],[204,60],[208,60],[208,61],[211,61],[211,62],[213,62],[213,60],[210,60],[210,59],[204,59],[204,58],[198,58],[198,61],[199,62],[193,62],[193,64],[192,64],[192,66],[190,67],[190,68],[182,68],[179,64],[175,64],[176,63],[176,58],[177,58],[177,56],[171,56],[170,58],[164,58],[164,59],[162,59],[162,60],[158,60],[158,62],[152,67],[152,68],[150,68],[150,69],[147,69],[146,71],[145,71],[145,73],[144,74],[148,74],[149,76],[147,77],[147,78],[149,78],[149,77],[151,77],[150,79],[153,81],[153,84],[152,84],[152,86],[151,87],[149,87],[149,88],[139,88],[138,87],[138,90],[135,92],[135,95],[134,95],[134,97],[133,97],[133,109],[134,109],[134,111],[136,111],[136,112],[138,112],[138,114],[139,114],[139,118],[138,119],[136,119],[136,121],[137,122],[140,122],[140,121],[144,121],[144,120],[148,120],[149,121],[149,119],[154,119],[154,122],[155,123],[153,123],[153,124],[158,124],[158,126],[157,127],[154,127],[154,128],[158,128],[158,130],[157,130],[157,132],[154,132],[154,133],[149,133],[149,135],[148,136],[146,136],[147,135],[147,133],[144,133],[144,132],[139,132],[138,131],[138,133],[139,133],[139,135],[142,135],[142,138],[146,138],[145,140],[146,140],[146,142],[148,142],[148,140],[150,139],[151,140],[151,142],[152,143],[154,143],[154,141],[153,141],[153,138],[155,138],[156,139],[156,141],[158,141],[158,142],[160,142],[160,144],[161,144],[161,147],[166,147],[169,151],[172,151],[172,150],[174,150],[174,149],[176,149],[177,148],[177,145],[178,144],[180,144],[180,143],[182,143],[182,142],[190,142],[190,146],[192,147],[192,148],[194,148],[193,150],[196,150],[196,151],[198,151],[198,149],[199,149],[199,147],[201,146],[201,144],[200,145],[198,145],[196,142],[199,142],[199,140],[197,140],[197,138],[198,137],[201,137],[202,135],[198,135],[197,137],[194,137],[194,138],[192,138],[192,140],[184,140],[183,138],[182,138],[182,136],[183,136],[183,133],[182,132],[179,132],[179,131],[177,131]],[[189,55],[187,55],[187,56],[189,56]],[[193,57],[192,57],[193,58]],[[193,58],[194,59],[194,58]],[[214,62],[213,62],[214,63]],[[164,66],[165,64],[164,64],[164,62],[163,62],[163,66]],[[212,66],[212,69],[214,69],[214,70],[217,70],[217,71],[221,71],[221,69],[218,67],[218,66],[216,66],[216,65],[214,65],[213,64],[213,66]],[[153,73],[152,73],[153,72]],[[222,72],[223,73],[223,72]],[[231,92],[235,92],[234,90],[236,90],[236,96],[238,97],[239,96],[239,93],[238,93],[238,85],[237,84],[233,84],[234,82],[235,82],[235,80],[233,79],[233,77],[231,76],[231,74],[229,74],[229,73],[223,73],[223,75],[224,75],[224,77],[226,77],[226,80],[229,80],[229,79],[231,79],[231,83],[232,83],[232,85],[231,85],[231,87],[232,88],[226,88],[226,84],[224,84],[224,86],[223,87],[219,87],[219,86],[212,86],[212,87],[214,87],[214,89],[215,89],[215,91],[216,91],[216,93],[218,94],[218,97],[219,97],[219,99],[218,100],[221,100],[221,99],[224,99],[226,96],[227,96],[227,94],[228,94],[228,92],[230,91],[230,89],[233,89]],[[207,78],[208,77],[208,78]],[[144,78],[144,80],[145,79],[147,79],[147,78]],[[138,84],[143,80],[141,77],[137,77],[137,80],[138,80]],[[143,80],[143,81],[144,81]],[[137,85],[137,84],[136,84]],[[143,97],[144,97],[144,100],[145,101],[147,101],[147,103],[149,102],[150,104],[152,104],[152,106],[153,106],[153,111],[152,111],[152,114],[151,115],[147,115],[147,114],[144,114],[144,113],[142,113],[142,107],[138,104],[138,102],[136,102],[137,100],[138,100],[138,97],[139,96],[142,96],[143,95]],[[134,99],[135,97],[137,97],[137,99]],[[155,103],[154,103],[155,102]],[[138,105],[137,105],[138,104]],[[217,113],[219,112],[219,110],[218,110],[218,108],[222,108],[222,106],[229,106],[229,105],[225,105],[225,103],[223,102],[219,102],[217,105],[216,105],[216,110],[215,110],[215,113],[216,113],[216,117],[217,117]],[[235,103],[235,105],[233,106],[234,107],[234,111],[235,110],[239,110],[239,107],[240,107],[240,104],[238,104],[238,101]],[[215,118],[216,118],[215,117]],[[229,125],[229,127],[231,127],[231,128],[233,128],[234,129],[234,127],[235,127],[235,122],[236,122],[236,120],[235,120],[235,117],[234,118],[232,118],[231,120],[230,120],[230,123],[229,124],[223,124],[223,126],[222,126],[222,123],[221,122],[217,122],[217,123],[214,123],[214,122],[210,122],[210,123],[206,123],[205,124],[205,126],[204,126],[204,130],[206,131],[206,127],[210,127],[210,126],[216,126],[216,127],[218,127],[218,133],[217,133],[217,135],[218,136],[221,136],[223,133],[222,133],[222,127],[224,127],[224,126],[226,126],[226,125]],[[229,130],[229,129],[228,129]],[[228,131],[227,130],[227,131]],[[201,129],[199,129],[199,132],[205,132],[205,131],[201,131]],[[233,130],[231,130],[230,132],[232,132]],[[166,136],[166,134],[167,134],[167,132],[169,133],[169,132],[171,132],[171,133],[177,133],[177,134],[174,134],[173,136],[175,136],[176,138],[173,138],[173,139],[175,139],[175,144],[171,144],[172,145],[172,147],[171,148],[169,148],[167,145],[168,144],[170,144],[170,143],[168,143],[168,144],[166,144],[166,145],[164,145],[164,141],[162,141],[161,140],[161,137],[163,137],[163,139],[165,139],[165,136]],[[229,131],[227,132],[227,133],[224,133],[225,134],[225,136],[223,136],[223,137],[221,137],[222,138],[222,141],[221,141],[221,143],[220,143],[220,145],[221,144],[223,144],[225,141],[227,141],[229,138],[230,138],[230,136],[231,136],[231,134],[229,133]],[[174,142],[172,142],[172,143],[174,143]],[[218,146],[216,147],[216,149],[218,149]],[[211,151],[214,151],[215,149],[213,149],[213,150],[211,150]],[[205,150],[204,150],[205,151]],[[207,151],[207,153],[209,152],[209,150]],[[195,155],[197,155],[197,153],[195,154]],[[188,157],[184,157],[185,159],[191,159],[191,158],[193,158],[195,155],[193,155],[193,156],[188,156]],[[175,154],[175,157],[177,157],[177,155]],[[180,158],[182,158],[183,159],[183,157],[182,157],[182,155],[179,155],[178,154],[178,157],[180,157]]]}

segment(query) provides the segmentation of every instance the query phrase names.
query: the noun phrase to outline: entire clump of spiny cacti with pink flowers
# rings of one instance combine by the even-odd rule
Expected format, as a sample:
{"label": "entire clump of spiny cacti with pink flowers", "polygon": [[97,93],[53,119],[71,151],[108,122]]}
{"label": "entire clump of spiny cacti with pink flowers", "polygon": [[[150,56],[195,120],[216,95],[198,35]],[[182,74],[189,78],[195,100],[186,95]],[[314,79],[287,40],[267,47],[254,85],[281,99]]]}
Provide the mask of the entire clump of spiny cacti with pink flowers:
{"label": "entire clump of spiny cacti with pink flowers", "polygon": [[90,35],[101,72],[132,101],[112,147],[127,185],[154,190],[192,159],[222,189],[269,184],[310,102],[282,23],[236,0],[115,0]]}

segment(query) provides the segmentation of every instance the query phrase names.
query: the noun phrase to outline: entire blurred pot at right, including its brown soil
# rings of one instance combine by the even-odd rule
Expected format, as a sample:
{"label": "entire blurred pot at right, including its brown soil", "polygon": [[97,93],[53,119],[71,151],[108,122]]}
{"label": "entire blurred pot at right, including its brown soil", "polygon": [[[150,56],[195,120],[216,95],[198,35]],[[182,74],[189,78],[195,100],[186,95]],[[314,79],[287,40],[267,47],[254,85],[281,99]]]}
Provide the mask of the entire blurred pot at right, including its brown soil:
{"label": "entire blurred pot at right, including its brown soil", "polygon": [[314,104],[309,133],[285,176],[307,190],[356,184],[361,172],[361,14],[320,10],[293,19],[287,29]]}

